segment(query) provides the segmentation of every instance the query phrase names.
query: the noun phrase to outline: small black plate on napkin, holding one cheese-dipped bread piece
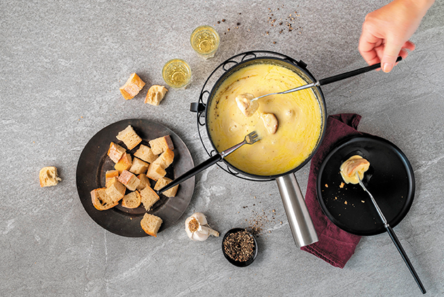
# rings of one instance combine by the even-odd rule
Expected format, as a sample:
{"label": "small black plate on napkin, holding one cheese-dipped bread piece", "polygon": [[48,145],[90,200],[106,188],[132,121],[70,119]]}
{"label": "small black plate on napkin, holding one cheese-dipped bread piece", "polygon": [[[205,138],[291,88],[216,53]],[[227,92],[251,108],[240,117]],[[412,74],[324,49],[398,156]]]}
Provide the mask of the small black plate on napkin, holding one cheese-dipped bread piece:
{"label": "small black plate on napkin, holding one cheese-dipped bread piece", "polygon": [[344,187],[340,187],[343,180],[339,167],[354,155],[370,162],[363,183],[392,227],[404,219],[413,202],[413,170],[395,144],[378,136],[346,139],[333,148],[322,162],[317,176],[317,199],[330,221],[356,235],[383,233],[385,227],[361,186],[344,183]]}

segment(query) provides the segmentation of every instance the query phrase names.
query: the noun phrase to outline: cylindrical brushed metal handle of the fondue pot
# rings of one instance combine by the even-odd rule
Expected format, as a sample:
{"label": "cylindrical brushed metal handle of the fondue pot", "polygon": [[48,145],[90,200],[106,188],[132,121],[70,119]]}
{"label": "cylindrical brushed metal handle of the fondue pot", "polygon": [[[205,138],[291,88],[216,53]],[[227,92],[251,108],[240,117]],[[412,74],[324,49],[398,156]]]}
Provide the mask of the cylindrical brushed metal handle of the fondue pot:
{"label": "cylindrical brushed metal handle of the fondue pot", "polygon": [[293,239],[299,248],[316,243],[317,233],[293,173],[276,178]]}

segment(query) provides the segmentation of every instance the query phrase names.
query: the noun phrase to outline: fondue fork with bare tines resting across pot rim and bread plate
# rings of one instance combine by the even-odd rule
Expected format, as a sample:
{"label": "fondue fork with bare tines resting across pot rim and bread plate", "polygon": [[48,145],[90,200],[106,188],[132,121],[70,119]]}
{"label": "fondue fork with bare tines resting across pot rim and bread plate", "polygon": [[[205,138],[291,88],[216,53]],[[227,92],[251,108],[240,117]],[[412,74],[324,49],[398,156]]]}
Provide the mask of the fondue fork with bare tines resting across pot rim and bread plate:
{"label": "fondue fork with bare tines resting across pot rim and bread plate", "polygon": [[168,185],[165,185],[165,187],[161,188],[160,190],[157,190],[156,193],[160,194],[162,192],[165,192],[166,190],[170,190],[172,187],[179,185],[181,182],[185,182],[185,180],[189,179],[189,177],[193,177],[194,175],[197,175],[197,173],[200,173],[202,170],[209,168],[211,165],[218,163],[218,161],[222,161],[223,158],[228,156],[230,153],[233,153],[233,151],[240,148],[240,146],[243,146],[244,144],[255,144],[259,140],[260,140],[260,138],[259,138],[259,135],[257,135],[257,132],[253,131],[253,132],[247,134],[244,138],[244,141],[242,141],[240,144],[236,144],[235,146],[227,148],[225,151],[222,151],[221,153],[216,153],[216,155],[214,155],[211,158],[209,158],[208,160],[200,163],[199,165],[192,168],[191,170],[188,170],[186,173],[180,175],[180,177],[177,177],[175,180],[170,182]]}

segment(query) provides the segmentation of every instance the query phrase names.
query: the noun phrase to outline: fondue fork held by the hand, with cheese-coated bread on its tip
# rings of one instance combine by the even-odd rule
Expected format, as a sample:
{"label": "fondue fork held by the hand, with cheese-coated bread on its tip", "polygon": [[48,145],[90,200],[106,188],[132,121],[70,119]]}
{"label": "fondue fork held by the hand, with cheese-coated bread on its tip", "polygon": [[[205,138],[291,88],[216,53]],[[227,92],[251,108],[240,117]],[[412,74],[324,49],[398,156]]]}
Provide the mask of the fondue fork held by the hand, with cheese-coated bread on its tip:
{"label": "fondue fork held by the hand, with cheese-coated bread on its tip", "polygon": [[[398,57],[396,62],[399,62],[402,60],[402,57]],[[288,93],[293,93],[293,92],[297,92],[297,91],[301,91],[301,90],[305,90],[306,88],[312,88],[315,86],[325,86],[329,83],[334,83],[336,81],[341,81],[345,78],[349,78],[352,76],[357,76],[359,74],[363,74],[366,73],[368,71],[372,71],[375,69],[381,68],[381,64],[374,64],[371,66],[366,66],[360,69],[356,69],[353,71],[349,71],[349,72],[345,72],[344,74],[338,74],[335,76],[331,76],[331,77],[327,77],[327,78],[323,78],[320,79],[319,81],[315,81],[313,83],[307,83],[303,86],[298,86],[297,88],[291,88],[287,91],[282,91],[282,92],[276,92],[276,93],[269,93],[269,94],[265,94],[262,96],[258,96],[255,97],[255,95],[251,94],[251,93],[243,93],[238,95],[235,100],[236,103],[238,103],[238,107],[239,110],[245,115],[245,117],[251,117],[252,115],[255,114],[257,108],[259,108],[259,103],[257,102],[258,99],[260,98],[264,98],[267,97],[269,95],[282,95],[282,94],[288,94]]]}

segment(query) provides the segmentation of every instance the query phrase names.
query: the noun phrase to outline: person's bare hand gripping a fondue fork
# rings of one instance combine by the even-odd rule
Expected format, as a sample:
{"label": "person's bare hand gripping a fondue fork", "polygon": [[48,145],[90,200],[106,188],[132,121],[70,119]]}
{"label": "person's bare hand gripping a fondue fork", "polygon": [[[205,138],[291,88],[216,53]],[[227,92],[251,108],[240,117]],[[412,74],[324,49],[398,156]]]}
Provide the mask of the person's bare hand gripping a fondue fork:
{"label": "person's bare hand gripping a fondue fork", "polygon": [[434,0],[394,0],[368,13],[358,50],[369,65],[381,63],[390,72],[398,56],[405,59],[415,45],[409,38]]}

